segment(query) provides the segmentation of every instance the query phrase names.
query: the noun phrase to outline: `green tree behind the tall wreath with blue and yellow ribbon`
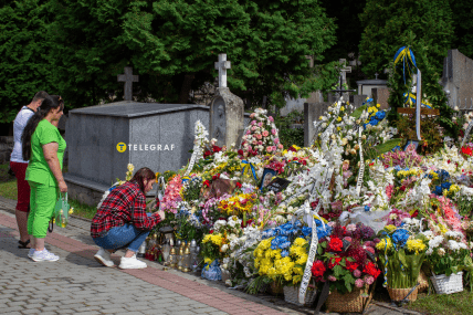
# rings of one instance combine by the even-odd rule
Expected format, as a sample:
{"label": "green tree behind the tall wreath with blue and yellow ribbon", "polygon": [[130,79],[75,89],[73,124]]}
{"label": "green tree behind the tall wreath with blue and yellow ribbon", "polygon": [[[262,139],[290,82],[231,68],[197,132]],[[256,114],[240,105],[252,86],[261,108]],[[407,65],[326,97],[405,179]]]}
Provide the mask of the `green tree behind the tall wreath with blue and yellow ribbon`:
{"label": "green tree behind the tall wreath with blue and yellow ribbon", "polygon": [[[390,120],[397,120],[396,108],[403,105],[403,93],[408,92],[411,78],[402,65],[392,64],[397,50],[409,46],[417,66],[422,72],[422,94],[425,94],[441,115],[438,123],[449,135],[456,133],[452,123],[453,111],[446,104],[446,97],[439,84],[443,70],[443,59],[451,48],[453,39],[452,11],[441,0],[367,0],[360,15],[366,25],[360,42],[364,71],[374,74],[391,67],[389,96]],[[406,72],[408,72],[406,70]]]}

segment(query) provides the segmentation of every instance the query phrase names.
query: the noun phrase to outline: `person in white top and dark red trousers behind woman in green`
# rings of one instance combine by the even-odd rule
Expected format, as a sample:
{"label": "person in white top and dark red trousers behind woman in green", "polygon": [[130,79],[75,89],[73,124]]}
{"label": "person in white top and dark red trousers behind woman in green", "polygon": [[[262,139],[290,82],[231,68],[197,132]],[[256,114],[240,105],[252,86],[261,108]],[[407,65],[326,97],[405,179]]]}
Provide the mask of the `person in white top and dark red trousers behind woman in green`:
{"label": "person in white top and dark red trousers behind woman in green", "polygon": [[18,113],[17,118],[14,118],[13,122],[14,146],[10,156],[10,168],[17,177],[18,202],[15,217],[18,230],[20,231],[20,241],[18,245],[20,249],[27,249],[30,243],[30,237],[28,235],[27,229],[28,213],[30,212],[30,186],[28,181],[24,180],[28,160],[23,160],[21,136],[28,120],[34,115],[46,96],[46,92],[38,92],[31,103],[20,109],[20,113]]}

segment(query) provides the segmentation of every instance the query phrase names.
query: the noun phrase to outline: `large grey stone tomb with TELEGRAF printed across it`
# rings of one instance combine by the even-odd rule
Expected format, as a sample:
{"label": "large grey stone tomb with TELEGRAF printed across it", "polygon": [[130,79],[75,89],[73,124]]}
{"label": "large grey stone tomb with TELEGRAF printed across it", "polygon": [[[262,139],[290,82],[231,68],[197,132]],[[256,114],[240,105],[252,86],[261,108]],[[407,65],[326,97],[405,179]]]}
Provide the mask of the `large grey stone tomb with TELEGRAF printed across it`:
{"label": "large grey stone tomb with TELEGRAF printed across it", "polygon": [[64,175],[71,198],[96,206],[117,178],[125,179],[128,164],[135,170],[180,169],[191,156],[197,120],[209,128],[208,106],[124,101],[71,111]]}

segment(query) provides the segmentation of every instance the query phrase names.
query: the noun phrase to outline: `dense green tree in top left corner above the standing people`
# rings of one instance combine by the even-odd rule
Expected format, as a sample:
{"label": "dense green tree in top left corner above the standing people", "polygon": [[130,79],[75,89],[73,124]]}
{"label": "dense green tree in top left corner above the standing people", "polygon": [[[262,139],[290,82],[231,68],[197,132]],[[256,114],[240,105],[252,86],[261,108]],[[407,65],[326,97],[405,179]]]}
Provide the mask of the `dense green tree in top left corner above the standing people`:
{"label": "dense green tree in top left corner above the standing people", "polygon": [[44,31],[45,2],[0,2],[0,123],[12,122],[38,91],[55,93]]}

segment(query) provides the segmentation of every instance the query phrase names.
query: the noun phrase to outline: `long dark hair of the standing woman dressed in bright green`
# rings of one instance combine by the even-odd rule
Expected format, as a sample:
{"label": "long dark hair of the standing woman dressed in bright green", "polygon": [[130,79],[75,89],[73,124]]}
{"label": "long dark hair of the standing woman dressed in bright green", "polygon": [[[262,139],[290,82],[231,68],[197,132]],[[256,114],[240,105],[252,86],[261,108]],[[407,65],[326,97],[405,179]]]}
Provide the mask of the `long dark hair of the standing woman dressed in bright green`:
{"label": "long dark hair of the standing woman dressed in bright green", "polygon": [[33,136],[34,130],[36,130],[38,124],[44,119],[52,108],[57,108],[57,106],[61,105],[56,98],[57,97],[52,97],[51,95],[44,98],[36,113],[34,113],[34,115],[28,120],[27,126],[23,129],[23,134],[21,135],[23,160],[30,160],[31,158],[31,137]]}

